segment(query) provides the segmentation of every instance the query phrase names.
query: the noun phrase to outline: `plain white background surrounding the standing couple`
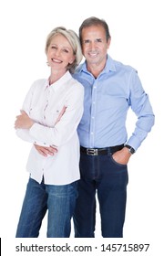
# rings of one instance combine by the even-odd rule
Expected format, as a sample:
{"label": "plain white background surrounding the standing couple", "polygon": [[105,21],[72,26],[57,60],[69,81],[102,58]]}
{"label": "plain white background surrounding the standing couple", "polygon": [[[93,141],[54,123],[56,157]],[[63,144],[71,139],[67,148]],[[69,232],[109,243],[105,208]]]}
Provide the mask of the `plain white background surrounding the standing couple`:
{"label": "plain white background surrounding the standing couple", "polygon": [[[0,2],[0,237],[13,240],[26,190],[30,144],[15,136],[15,115],[31,83],[49,75],[47,34],[57,26],[78,27],[88,16],[104,18],[112,37],[108,53],[138,69],[156,115],[148,138],[128,165],[125,240],[156,244],[164,229],[163,210],[163,7],[162,0],[5,0]],[[136,118],[129,112],[128,133]],[[71,234],[73,237],[73,232]],[[46,219],[40,238],[46,238]],[[97,207],[96,239],[100,239]],[[155,247],[155,246],[154,246]]]}

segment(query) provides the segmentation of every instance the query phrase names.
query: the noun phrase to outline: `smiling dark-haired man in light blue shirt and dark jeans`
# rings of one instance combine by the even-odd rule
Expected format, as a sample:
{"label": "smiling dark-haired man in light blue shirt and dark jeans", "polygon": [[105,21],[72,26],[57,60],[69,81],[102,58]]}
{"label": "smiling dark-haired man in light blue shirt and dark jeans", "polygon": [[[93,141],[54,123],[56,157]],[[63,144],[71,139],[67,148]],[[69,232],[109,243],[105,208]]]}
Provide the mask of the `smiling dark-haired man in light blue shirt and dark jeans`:
{"label": "smiling dark-haired man in light blue shirt and dark jeans", "polygon": [[[108,55],[108,25],[97,17],[87,18],[79,28],[86,61],[74,78],[85,88],[84,114],[78,126],[80,172],[75,236],[93,238],[96,225],[96,192],[104,238],[123,237],[128,160],[154,124],[149,96],[143,90],[135,69]],[[128,108],[138,121],[128,138]]]}

